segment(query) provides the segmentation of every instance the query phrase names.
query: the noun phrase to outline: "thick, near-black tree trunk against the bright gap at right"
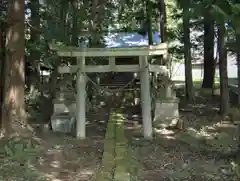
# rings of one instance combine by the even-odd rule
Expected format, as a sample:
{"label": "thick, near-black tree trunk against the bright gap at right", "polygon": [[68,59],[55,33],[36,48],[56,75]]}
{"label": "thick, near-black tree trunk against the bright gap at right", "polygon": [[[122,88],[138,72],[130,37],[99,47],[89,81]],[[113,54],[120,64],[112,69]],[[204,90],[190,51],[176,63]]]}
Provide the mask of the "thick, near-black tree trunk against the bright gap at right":
{"label": "thick, near-black tree trunk against the bright gap at right", "polygon": [[214,19],[207,9],[204,16],[204,76],[202,88],[214,88]]}

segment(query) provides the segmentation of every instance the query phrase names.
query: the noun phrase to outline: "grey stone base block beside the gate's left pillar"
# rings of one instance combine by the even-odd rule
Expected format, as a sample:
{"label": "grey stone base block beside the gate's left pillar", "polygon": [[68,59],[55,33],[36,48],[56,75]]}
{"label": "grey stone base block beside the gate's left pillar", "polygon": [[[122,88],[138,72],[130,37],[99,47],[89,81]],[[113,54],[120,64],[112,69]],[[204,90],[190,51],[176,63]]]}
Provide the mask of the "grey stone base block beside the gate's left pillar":
{"label": "grey stone base block beside the gate's left pillar", "polygon": [[66,115],[53,115],[51,125],[53,132],[73,133],[75,129],[75,117]]}

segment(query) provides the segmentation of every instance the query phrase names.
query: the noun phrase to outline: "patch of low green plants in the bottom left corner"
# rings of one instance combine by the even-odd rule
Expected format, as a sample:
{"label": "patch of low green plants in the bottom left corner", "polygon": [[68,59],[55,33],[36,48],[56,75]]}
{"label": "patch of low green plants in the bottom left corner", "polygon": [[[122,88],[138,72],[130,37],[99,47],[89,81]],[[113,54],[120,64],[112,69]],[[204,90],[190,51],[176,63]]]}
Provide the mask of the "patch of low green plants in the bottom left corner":
{"label": "patch of low green plants in the bottom left corner", "polygon": [[41,173],[32,166],[39,154],[36,143],[12,137],[1,140],[0,145],[0,180],[44,180]]}

